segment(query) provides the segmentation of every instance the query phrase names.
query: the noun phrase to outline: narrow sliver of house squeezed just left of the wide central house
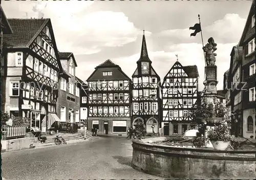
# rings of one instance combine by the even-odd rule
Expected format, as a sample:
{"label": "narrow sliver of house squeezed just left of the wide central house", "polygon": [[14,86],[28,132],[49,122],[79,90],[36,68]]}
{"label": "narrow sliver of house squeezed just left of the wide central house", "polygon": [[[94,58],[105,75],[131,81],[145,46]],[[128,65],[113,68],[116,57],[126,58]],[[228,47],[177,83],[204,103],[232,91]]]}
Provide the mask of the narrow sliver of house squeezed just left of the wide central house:
{"label": "narrow sliver of house squeezed just left of the wide central house", "polygon": [[87,127],[88,117],[88,84],[76,77],[77,82],[80,84],[80,124]]}

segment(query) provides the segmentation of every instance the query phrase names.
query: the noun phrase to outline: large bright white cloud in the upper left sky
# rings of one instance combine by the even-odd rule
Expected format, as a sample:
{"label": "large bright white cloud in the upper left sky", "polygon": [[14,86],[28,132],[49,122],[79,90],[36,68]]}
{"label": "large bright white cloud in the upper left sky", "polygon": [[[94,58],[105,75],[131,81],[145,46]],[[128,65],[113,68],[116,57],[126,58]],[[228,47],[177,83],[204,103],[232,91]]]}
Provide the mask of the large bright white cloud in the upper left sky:
{"label": "large bright white cloud in the upper left sky", "polygon": [[[90,55],[104,47],[118,47],[136,41],[141,30],[122,12],[90,11],[92,1],[6,2],[8,18],[51,18],[60,52]],[[16,13],[17,12],[17,13]],[[145,32],[148,36],[150,32]]]}

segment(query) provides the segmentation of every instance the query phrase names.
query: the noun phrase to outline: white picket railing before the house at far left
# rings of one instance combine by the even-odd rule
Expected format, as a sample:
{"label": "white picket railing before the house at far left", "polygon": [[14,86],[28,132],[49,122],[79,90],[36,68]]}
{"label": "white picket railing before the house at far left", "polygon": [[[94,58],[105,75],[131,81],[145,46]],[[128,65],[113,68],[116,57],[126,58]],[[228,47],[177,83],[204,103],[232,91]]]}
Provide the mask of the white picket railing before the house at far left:
{"label": "white picket railing before the house at far left", "polygon": [[15,139],[26,136],[26,126],[2,126],[2,140]]}

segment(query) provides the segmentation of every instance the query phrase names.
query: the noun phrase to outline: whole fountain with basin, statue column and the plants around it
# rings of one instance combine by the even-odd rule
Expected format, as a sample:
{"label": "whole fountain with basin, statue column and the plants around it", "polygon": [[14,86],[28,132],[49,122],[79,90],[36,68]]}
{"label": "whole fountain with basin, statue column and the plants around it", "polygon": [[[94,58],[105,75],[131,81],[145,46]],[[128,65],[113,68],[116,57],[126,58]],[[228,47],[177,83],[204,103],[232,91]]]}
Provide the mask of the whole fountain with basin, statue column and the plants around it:
{"label": "whole fountain with basin, statue column and the plants around it", "polygon": [[[199,125],[198,137],[190,145],[185,145],[185,140],[174,143],[175,139],[171,137],[136,138],[132,144],[134,168],[164,178],[255,178],[256,150],[232,149],[235,141],[229,135],[227,127],[230,116],[227,109],[217,102],[216,45],[214,39],[209,38],[203,47],[207,64],[204,96],[202,104],[196,107],[193,114]],[[223,143],[218,142],[219,140],[231,143],[231,149],[222,147],[221,149],[226,150],[218,150],[218,144]],[[196,145],[195,142],[199,144]],[[198,148],[199,146],[201,147]]]}

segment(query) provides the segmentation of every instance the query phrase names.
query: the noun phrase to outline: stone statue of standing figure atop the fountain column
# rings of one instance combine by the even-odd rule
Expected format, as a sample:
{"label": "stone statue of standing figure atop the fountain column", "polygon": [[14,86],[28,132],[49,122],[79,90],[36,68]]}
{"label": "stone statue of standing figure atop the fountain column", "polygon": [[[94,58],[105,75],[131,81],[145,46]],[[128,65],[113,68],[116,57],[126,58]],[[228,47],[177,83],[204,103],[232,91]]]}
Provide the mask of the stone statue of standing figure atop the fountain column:
{"label": "stone statue of standing figure atop the fountain column", "polygon": [[203,50],[205,52],[205,59],[206,59],[206,65],[207,66],[216,66],[216,56],[217,54],[214,53],[217,50],[217,44],[214,42],[214,38],[210,37],[208,39],[208,43],[203,46]]}

